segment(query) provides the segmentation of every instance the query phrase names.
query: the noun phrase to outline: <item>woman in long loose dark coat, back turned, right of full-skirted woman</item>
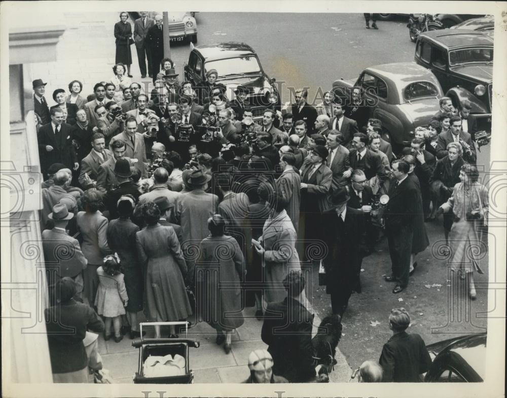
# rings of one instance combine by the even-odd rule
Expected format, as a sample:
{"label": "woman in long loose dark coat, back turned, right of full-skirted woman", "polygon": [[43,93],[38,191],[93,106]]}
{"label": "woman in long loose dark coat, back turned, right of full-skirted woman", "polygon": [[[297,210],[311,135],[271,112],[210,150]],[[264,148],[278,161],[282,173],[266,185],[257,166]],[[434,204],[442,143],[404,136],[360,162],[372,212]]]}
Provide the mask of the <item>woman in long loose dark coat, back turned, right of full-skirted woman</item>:
{"label": "woman in long loose dark coat, back turned, right of full-skirted woman", "polygon": [[[244,322],[240,282],[244,280],[245,260],[238,242],[224,235],[224,217],[214,214],[208,219],[208,229],[210,235],[201,241],[197,263],[198,267],[209,269],[199,276],[201,291],[207,293],[202,301],[202,314],[216,330],[216,344],[225,341],[224,350],[228,354],[231,352],[232,331]],[[228,287],[221,288],[222,283],[227,283]]]}

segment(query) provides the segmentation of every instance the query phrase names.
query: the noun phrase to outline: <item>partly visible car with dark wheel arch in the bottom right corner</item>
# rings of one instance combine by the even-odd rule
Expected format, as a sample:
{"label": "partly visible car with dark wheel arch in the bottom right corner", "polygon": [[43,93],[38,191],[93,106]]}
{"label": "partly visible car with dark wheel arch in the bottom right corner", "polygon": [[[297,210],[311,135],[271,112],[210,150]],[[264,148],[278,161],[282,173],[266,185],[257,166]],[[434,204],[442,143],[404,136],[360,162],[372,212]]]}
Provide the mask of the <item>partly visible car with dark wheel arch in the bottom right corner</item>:
{"label": "partly visible car with dark wheel arch in the bottom right corner", "polygon": [[426,346],[433,362],[425,382],[478,383],[484,381],[487,333],[467,335]]}

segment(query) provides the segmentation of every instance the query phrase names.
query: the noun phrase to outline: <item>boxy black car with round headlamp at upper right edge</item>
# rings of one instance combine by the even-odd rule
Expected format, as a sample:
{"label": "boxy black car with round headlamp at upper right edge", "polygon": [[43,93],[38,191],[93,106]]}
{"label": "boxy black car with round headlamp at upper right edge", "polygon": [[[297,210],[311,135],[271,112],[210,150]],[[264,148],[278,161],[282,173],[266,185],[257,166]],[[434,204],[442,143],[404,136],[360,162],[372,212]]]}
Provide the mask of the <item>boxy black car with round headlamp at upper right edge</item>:
{"label": "boxy black car with round headlamp at upper right edge", "polygon": [[493,40],[477,30],[424,32],[417,39],[415,61],[437,76],[455,108],[470,101],[478,129],[491,131]]}

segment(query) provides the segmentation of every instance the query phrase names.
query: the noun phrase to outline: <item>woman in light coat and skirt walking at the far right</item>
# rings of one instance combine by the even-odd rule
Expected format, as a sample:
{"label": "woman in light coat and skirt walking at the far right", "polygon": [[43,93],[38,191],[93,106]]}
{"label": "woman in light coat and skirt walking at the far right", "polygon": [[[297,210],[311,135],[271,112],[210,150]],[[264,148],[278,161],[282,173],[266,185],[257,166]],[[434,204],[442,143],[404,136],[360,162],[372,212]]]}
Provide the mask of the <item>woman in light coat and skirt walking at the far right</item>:
{"label": "woman in light coat and skirt walking at the far right", "polygon": [[[478,182],[479,172],[475,165],[465,163],[459,172],[460,183],[454,186],[451,197],[440,206],[437,213],[454,215],[451,237],[451,259],[449,264],[461,279],[468,277],[468,293],[476,299],[474,271],[484,272],[479,266],[487,247],[482,244],[482,230],[488,225],[488,189]],[[480,250],[474,250],[479,244]]]}

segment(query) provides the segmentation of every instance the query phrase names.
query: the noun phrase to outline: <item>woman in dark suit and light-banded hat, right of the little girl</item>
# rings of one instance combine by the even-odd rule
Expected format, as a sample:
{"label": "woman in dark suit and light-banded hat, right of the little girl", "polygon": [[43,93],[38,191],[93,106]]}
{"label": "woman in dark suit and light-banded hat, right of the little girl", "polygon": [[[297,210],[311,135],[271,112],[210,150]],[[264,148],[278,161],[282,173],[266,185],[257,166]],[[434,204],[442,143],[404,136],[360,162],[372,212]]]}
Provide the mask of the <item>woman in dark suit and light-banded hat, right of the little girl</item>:
{"label": "woman in dark suit and light-banded hat, right of the little girl", "polygon": [[141,264],[137,259],[135,247],[135,234],[139,227],[130,221],[130,215],[134,209],[135,199],[132,195],[120,197],[118,201],[118,213],[120,218],[111,220],[107,225],[107,243],[120,257],[125,276],[125,287],[127,289],[128,324],[122,327],[122,333],[129,331],[129,337],[135,339],[140,337],[137,323],[137,313],[142,310],[143,277]]}

